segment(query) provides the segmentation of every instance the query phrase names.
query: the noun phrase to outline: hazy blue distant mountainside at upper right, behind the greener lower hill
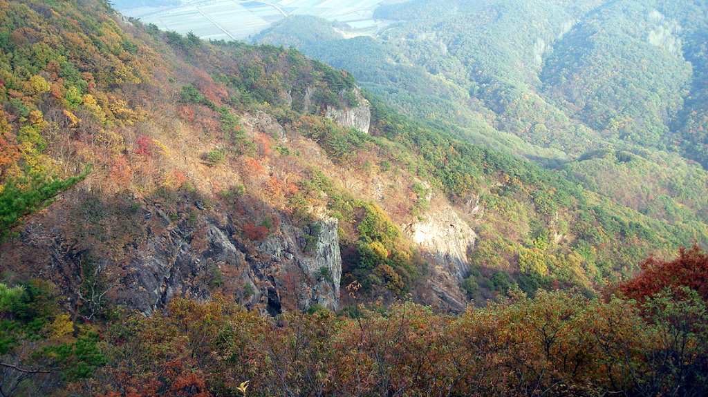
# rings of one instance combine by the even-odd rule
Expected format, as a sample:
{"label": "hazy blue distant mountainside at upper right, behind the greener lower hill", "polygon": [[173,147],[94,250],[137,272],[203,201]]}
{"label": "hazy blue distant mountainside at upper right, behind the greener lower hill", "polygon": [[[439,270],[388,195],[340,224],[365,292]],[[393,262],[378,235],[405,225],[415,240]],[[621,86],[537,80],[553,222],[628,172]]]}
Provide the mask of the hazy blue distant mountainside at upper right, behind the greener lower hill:
{"label": "hazy blue distant mountainside at upper right, behind the greener lower hill", "polygon": [[[411,112],[421,119],[489,110],[499,131],[569,155],[597,148],[598,140],[676,153],[674,136],[686,134],[679,113],[702,103],[706,18],[704,4],[693,1],[414,0],[382,6],[377,17],[399,23],[373,39],[302,49],[346,66],[379,93],[389,90],[401,109],[427,103],[430,94],[449,102]],[[300,34],[283,24],[259,40],[284,31]],[[407,67],[417,75],[401,76]],[[421,89],[435,83],[462,95]],[[479,128],[463,120],[460,126]]]}

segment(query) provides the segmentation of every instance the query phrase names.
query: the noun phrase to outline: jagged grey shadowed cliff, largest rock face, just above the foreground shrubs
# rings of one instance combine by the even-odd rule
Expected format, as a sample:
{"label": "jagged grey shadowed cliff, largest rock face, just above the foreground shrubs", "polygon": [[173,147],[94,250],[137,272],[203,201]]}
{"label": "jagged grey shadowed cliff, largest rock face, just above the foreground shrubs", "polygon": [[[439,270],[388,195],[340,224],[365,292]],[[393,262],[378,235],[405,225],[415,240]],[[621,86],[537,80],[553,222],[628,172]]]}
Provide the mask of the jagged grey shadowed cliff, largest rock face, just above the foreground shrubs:
{"label": "jagged grey shadowed cliff, largest rock face, just above the foreground shrubs", "polygon": [[123,291],[125,297],[146,314],[173,296],[207,297],[210,284],[224,284],[247,307],[273,315],[313,304],[336,310],[341,278],[337,228],[331,219],[299,228],[281,215],[280,229],[253,242],[252,249],[227,219],[207,218],[199,232],[176,227],[168,235],[151,236],[120,284],[132,286]]}

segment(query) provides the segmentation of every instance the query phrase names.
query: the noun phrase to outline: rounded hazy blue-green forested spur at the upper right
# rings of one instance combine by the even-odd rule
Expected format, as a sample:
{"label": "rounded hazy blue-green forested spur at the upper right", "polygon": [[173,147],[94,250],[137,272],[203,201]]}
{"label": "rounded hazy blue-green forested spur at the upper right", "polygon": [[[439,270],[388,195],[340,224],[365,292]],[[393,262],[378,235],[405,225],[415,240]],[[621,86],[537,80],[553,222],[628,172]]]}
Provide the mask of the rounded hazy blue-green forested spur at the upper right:
{"label": "rounded hazy blue-green forested spur at the upper right", "polygon": [[605,6],[559,40],[541,78],[605,139],[666,148],[691,81],[680,25],[639,1]]}

